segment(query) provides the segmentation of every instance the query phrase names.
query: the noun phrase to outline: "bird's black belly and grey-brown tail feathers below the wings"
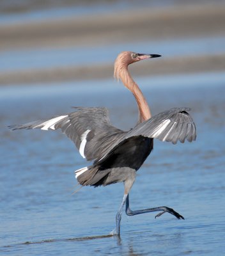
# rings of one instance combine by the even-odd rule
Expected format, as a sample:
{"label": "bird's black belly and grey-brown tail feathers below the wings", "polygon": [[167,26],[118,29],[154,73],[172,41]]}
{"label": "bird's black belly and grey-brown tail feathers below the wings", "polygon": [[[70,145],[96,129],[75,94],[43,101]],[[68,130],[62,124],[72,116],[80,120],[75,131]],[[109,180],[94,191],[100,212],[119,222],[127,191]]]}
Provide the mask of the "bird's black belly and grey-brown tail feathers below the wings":
{"label": "bird's black belly and grey-brown tail feathers below the wings", "polygon": [[126,179],[129,170],[138,170],[153,149],[153,139],[134,136],[123,141],[101,163],[89,166],[77,177],[82,186],[107,186]]}

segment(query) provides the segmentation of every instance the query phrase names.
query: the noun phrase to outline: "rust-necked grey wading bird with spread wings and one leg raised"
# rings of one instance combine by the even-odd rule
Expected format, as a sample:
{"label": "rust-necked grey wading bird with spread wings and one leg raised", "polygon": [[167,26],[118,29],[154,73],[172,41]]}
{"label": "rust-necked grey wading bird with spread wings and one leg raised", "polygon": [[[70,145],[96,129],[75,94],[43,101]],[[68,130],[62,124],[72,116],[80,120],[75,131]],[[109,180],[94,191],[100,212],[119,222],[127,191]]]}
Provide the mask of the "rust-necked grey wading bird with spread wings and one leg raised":
{"label": "rust-necked grey wading bird with spread wings and one leg raised", "polygon": [[157,58],[159,54],[141,54],[123,51],[114,61],[114,77],[121,80],[132,92],[137,102],[138,120],[134,128],[122,131],[114,127],[109,119],[107,108],[74,107],[74,111],[65,115],[53,116],[22,125],[10,125],[17,129],[42,129],[61,131],[75,143],[82,157],[93,161],[91,165],[75,171],[75,178],[81,186],[107,186],[123,182],[123,198],[116,213],[116,228],[113,235],[120,237],[121,214],[125,205],[128,216],[146,212],[159,212],[155,218],[165,212],[177,219],[183,216],[166,206],[132,211],[129,206],[129,192],[136,180],[137,170],[153,150],[153,140],[176,144],[185,140],[196,140],[196,125],[189,114],[190,108],[172,108],[151,116],[150,107],[139,86],[128,70],[128,65],[138,61]]}

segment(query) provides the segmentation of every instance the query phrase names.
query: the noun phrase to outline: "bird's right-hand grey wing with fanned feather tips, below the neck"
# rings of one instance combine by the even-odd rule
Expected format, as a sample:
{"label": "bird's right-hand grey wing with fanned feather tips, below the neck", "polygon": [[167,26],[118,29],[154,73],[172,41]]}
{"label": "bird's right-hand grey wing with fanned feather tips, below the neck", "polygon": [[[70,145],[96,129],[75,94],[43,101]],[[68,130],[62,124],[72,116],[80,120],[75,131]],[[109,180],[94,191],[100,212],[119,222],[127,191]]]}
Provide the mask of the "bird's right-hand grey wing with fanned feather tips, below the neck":
{"label": "bird's right-hand grey wing with fanned feather tips, below the neck", "polygon": [[196,125],[187,112],[189,110],[190,108],[172,108],[137,124],[134,129],[125,133],[123,138],[115,141],[105,155],[98,158],[95,163],[105,161],[116,148],[121,147],[125,141],[134,136],[157,138],[161,141],[171,141],[173,144],[176,144],[178,140],[182,143],[185,139],[189,142],[196,140]]}

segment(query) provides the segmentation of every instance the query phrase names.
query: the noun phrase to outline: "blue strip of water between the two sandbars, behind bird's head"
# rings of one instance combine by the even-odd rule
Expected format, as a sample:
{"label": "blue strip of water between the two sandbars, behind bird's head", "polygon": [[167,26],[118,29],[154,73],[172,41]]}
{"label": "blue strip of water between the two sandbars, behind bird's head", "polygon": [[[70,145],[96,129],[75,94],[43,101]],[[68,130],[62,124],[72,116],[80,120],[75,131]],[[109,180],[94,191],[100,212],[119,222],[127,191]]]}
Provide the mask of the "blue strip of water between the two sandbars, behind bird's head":
{"label": "blue strip of water between the two sandbars, behind bird's head", "polygon": [[[26,49],[0,52],[1,72],[35,68],[70,67],[113,63],[120,51],[158,53],[163,58],[224,54],[225,36],[180,40],[130,42],[100,47],[67,47],[61,49]],[[109,51],[110,48],[110,51]],[[94,51],[93,51],[94,50]],[[35,60],[35,61],[34,61]]]}

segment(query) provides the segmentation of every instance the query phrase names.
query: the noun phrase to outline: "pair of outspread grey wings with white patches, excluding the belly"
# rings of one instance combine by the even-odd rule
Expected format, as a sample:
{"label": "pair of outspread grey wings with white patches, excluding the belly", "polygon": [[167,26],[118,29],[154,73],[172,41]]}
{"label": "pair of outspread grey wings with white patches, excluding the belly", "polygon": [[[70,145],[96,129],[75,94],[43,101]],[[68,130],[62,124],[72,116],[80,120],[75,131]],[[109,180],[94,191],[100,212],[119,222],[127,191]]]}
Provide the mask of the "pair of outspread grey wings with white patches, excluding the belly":
{"label": "pair of outspread grey wings with white patches, excluding the belly", "polygon": [[[189,115],[189,108],[173,108],[151,117],[134,129],[124,132],[110,124],[106,108],[75,108],[76,111],[62,116],[11,125],[10,129],[61,129],[74,141],[82,156],[88,160],[102,161],[123,141],[134,136],[157,138],[176,144],[179,140],[196,140],[196,126]],[[88,132],[87,132],[88,131]],[[81,147],[82,143],[82,148]]]}

